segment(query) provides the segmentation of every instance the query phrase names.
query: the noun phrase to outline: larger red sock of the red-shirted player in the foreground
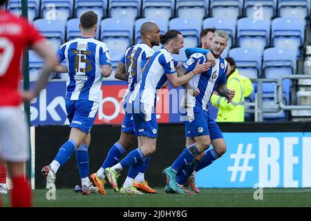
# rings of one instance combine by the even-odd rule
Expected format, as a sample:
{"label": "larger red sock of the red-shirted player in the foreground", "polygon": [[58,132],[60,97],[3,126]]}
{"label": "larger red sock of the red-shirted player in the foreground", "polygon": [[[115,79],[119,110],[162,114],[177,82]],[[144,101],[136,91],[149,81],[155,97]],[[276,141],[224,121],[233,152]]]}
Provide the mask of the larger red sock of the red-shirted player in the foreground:
{"label": "larger red sock of the red-shirted player in the foreground", "polygon": [[32,206],[32,194],[28,180],[23,176],[12,177],[11,204],[13,207]]}

